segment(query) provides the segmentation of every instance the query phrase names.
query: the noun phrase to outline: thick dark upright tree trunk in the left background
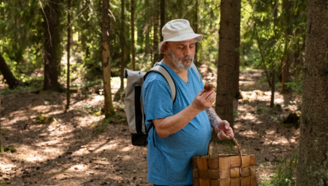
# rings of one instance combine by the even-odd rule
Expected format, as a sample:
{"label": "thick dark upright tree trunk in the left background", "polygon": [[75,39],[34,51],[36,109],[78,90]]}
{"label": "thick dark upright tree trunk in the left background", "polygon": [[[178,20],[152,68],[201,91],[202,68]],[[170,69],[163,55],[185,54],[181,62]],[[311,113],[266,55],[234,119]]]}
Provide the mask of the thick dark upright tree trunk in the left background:
{"label": "thick dark upright tree trunk in the left background", "polygon": [[59,14],[58,10],[58,0],[49,1],[46,3],[44,8],[45,21],[44,21],[44,33],[45,33],[45,43],[44,43],[44,82],[43,90],[60,91],[60,86],[58,83],[58,69],[60,59],[57,56],[57,48],[59,48]]}

